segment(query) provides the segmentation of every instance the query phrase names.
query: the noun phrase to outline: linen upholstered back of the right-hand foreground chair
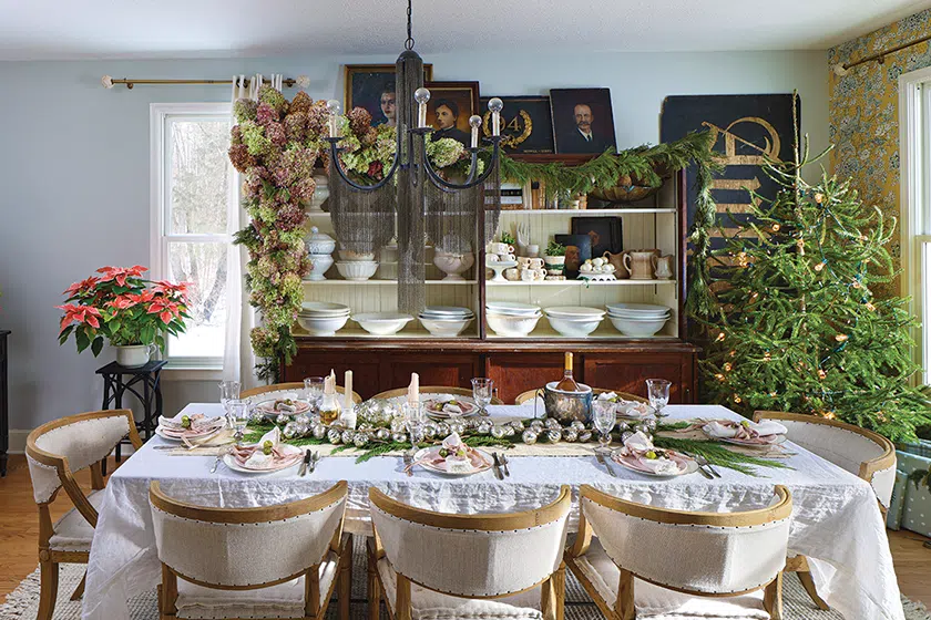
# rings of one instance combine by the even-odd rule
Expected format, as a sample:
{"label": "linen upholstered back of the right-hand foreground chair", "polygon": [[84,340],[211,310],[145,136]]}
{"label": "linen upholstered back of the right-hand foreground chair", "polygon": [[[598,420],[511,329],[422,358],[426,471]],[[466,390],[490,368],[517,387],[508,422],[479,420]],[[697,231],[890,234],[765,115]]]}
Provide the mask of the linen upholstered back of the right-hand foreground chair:
{"label": "linen upholstered back of the right-hand foreground chair", "polygon": [[770,506],[744,513],[656,508],[587,485],[580,504],[607,556],[658,586],[733,595],[765,587],[786,565],[792,500],[784,486]]}

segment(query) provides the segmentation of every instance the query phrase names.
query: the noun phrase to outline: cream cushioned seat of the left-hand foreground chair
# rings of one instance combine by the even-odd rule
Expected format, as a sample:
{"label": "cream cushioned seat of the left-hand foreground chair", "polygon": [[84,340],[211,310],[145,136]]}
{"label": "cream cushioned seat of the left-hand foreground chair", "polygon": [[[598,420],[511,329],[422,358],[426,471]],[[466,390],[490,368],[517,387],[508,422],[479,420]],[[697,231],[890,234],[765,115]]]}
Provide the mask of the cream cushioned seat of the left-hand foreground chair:
{"label": "cream cushioned seat of the left-hand foreground chair", "polygon": [[[320,562],[320,592],[329,592],[339,567],[330,551]],[[177,582],[177,617],[187,620],[224,618],[303,618],[304,577],[257,590],[217,590],[184,579]],[[320,597],[320,608],[326,600]]]}

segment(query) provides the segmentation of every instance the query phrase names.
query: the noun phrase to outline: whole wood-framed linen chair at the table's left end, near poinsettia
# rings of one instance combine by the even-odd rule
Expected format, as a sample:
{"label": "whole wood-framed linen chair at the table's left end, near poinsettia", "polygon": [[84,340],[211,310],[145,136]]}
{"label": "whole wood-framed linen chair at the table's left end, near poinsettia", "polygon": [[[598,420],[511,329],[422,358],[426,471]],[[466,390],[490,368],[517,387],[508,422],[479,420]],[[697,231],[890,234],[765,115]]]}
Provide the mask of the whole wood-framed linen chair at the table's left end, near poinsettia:
{"label": "whole wood-framed linen chair at the table's left end, near poinsettia", "polygon": [[[101,461],[126,435],[134,450],[142,447],[133,413],[117,409],[61,417],[42,424],[25,438],[32,495],[39,506],[38,620],[50,620],[54,613],[59,564],[88,564],[104,496]],[[85,468],[91,472],[91,493],[86,495],[74,479],[74,474]],[[74,507],[53,524],[49,507],[61,488]],[[81,598],[83,591],[82,579],[71,600]]]}

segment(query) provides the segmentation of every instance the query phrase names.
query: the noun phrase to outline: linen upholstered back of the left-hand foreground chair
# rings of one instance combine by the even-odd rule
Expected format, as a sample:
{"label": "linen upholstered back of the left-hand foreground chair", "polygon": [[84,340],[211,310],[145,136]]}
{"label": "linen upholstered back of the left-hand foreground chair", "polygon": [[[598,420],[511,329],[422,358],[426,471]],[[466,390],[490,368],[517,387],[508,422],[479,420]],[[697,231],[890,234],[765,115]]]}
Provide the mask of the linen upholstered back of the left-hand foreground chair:
{"label": "linen upholstered back of the left-hand foreground chair", "polygon": [[158,559],[188,581],[213,586],[260,588],[294,579],[336,548],[346,488],[340,482],[290,504],[212,508],[172,499],[153,482]]}

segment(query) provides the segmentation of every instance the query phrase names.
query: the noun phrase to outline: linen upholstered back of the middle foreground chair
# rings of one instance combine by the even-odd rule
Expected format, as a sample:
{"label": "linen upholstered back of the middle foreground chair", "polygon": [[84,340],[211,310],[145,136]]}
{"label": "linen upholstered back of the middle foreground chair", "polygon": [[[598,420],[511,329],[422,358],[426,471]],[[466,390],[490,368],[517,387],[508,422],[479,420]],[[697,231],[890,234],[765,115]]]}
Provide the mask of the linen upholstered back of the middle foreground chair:
{"label": "linen upholstered back of the middle foreground chair", "polygon": [[530,589],[559,569],[571,494],[564,486],[549,506],[502,515],[421,510],[375,488],[369,505],[397,574],[431,590],[482,598]]}

